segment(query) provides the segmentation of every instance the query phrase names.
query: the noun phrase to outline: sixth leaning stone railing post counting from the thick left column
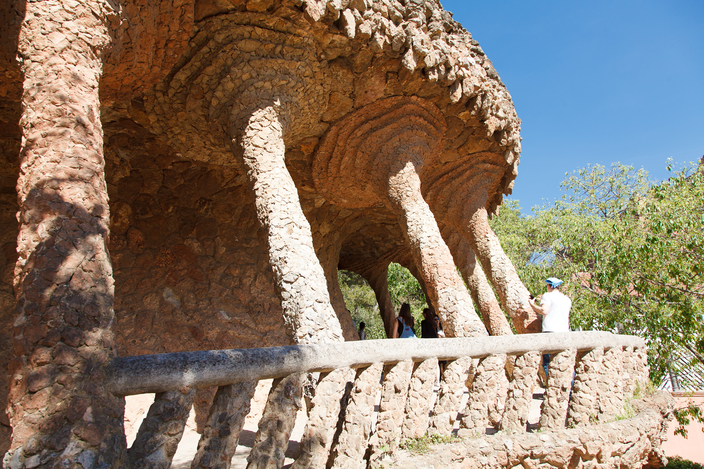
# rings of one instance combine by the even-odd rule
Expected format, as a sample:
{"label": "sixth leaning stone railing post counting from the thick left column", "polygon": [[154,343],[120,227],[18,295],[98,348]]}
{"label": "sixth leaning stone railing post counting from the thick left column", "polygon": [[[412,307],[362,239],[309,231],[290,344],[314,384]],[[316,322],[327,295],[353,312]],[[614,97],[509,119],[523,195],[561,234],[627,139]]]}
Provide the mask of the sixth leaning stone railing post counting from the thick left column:
{"label": "sixth leaning stone railing post counting from the thick left column", "polygon": [[370,442],[370,467],[375,468],[385,454],[393,455],[401,441],[406,399],[413,361],[399,361],[384,367],[382,398],[379,400],[377,429]]}

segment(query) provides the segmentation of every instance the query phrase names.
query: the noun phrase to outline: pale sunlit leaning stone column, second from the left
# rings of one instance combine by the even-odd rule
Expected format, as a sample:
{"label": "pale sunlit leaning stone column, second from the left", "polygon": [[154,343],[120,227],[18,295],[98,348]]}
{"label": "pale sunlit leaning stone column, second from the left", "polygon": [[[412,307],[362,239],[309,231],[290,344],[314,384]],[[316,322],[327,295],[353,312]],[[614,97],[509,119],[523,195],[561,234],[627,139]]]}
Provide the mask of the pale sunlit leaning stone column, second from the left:
{"label": "pale sunlit leaning stone column, second from the left", "polygon": [[284,112],[277,102],[251,112],[241,139],[247,179],[267,233],[269,262],[289,332],[297,343],[341,342],[310,224],[284,162]]}

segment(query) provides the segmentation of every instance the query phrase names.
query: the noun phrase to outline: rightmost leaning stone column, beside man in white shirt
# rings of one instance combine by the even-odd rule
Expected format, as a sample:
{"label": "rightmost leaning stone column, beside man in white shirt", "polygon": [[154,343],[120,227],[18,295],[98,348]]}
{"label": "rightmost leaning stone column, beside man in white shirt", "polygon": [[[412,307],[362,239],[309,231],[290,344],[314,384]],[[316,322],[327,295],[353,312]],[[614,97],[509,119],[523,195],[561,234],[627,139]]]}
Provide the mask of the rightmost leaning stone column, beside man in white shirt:
{"label": "rightmost leaning stone column, beside man in white shirt", "polygon": [[528,304],[529,292],[518,277],[513,263],[503,252],[496,233],[489,226],[486,207],[468,210],[463,222],[467,226],[467,239],[496,288],[503,307],[513,318],[517,332],[539,333],[541,322]]}

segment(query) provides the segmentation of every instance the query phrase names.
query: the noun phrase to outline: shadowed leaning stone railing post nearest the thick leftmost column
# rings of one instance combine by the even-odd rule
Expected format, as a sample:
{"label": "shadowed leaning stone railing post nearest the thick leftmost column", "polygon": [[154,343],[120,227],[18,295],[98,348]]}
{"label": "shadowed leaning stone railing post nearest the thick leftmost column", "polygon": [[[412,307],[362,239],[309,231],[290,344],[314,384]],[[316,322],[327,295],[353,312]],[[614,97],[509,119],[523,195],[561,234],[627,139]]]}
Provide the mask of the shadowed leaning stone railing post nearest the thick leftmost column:
{"label": "shadowed leaning stone railing post nearest the thick leftmost column", "polygon": [[195,394],[193,387],[156,394],[154,403],[139,426],[137,438],[127,451],[132,468],[171,467],[171,461],[186,428]]}

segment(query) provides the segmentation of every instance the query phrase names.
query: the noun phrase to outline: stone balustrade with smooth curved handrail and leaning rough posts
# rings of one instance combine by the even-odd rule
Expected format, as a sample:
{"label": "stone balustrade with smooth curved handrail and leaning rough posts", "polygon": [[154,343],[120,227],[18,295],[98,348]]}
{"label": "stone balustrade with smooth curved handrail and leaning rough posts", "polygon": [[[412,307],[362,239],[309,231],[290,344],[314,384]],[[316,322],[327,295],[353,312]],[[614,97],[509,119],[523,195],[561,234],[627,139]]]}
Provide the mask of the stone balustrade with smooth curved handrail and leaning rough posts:
{"label": "stone balustrade with smooth curved handrail and leaning rough posts", "polygon": [[[267,444],[256,446],[248,468],[280,468],[291,432],[281,425],[306,405],[305,373],[320,373],[292,467],[351,469],[383,465],[402,437],[450,435],[455,420],[460,420],[460,436],[484,435],[487,427],[505,434],[526,432],[536,385],[533,368],[541,366],[537,358],[543,352],[553,354],[553,360],[541,430],[559,430],[566,422],[589,426],[613,420],[647,380],[644,351],[641,338],[594,331],[366,340],[128,356],[113,359],[107,385],[118,396],[156,393],[137,435],[139,447],[128,450],[139,468],[169,467],[191,406],[189,390],[218,386],[191,467],[229,468],[254,383],[273,378],[270,410],[259,425],[260,433],[268,433]],[[448,360],[448,366],[433,399],[432,375],[439,359]],[[467,404],[460,409],[467,390]],[[180,404],[184,409],[176,409]]]}

